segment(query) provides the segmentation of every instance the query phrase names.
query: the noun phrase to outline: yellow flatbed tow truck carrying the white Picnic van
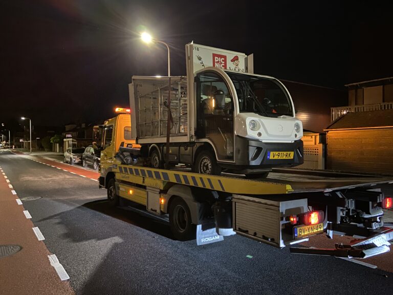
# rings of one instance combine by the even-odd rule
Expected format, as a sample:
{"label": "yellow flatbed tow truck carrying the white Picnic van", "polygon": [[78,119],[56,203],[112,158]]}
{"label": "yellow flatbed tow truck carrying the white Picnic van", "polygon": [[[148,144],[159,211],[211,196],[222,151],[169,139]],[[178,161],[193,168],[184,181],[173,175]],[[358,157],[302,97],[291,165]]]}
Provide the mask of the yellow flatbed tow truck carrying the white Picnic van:
{"label": "yellow flatbed tow truck carrying the white Picnic van", "polygon": [[[389,251],[383,209],[392,177],[332,171],[273,170],[268,178],[193,173],[184,165],[151,167],[129,140],[130,110],[103,125],[99,186],[110,206],[143,208],[169,219],[173,236],[199,245],[239,234],[292,253],[367,258]],[[128,114],[128,115],[127,115]],[[355,236],[333,249],[295,247],[315,235]]]}

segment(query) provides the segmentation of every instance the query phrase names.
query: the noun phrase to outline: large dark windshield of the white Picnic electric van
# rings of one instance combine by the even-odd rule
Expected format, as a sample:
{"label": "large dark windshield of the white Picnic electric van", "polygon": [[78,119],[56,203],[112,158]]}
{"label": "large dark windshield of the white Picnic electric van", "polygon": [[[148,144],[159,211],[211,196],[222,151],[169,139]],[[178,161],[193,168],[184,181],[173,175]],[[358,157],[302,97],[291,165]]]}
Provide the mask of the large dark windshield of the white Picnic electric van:
{"label": "large dark windshield of the white Picnic electric van", "polygon": [[286,91],[275,80],[247,74],[226,72],[233,81],[241,113],[265,117],[293,116]]}

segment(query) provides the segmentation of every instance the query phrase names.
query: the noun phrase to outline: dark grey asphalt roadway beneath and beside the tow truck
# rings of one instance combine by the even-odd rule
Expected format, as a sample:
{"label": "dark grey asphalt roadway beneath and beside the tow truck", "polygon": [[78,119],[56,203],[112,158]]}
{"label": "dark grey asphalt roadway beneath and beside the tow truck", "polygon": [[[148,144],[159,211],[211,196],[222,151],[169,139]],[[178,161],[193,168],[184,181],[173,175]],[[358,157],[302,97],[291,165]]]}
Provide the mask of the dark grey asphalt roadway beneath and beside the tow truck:
{"label": "dark grey asphalt roadway beneath and beside the tow truck", "polygon": [[179,242],[165,222],[108,208],[106,191],[88,177],[10,152],[0,153],[0,165],[19,198],[41,197],[23,205],[76,294],[375,295],[393,289],[393,273],[290,255],[288,248],[241,236],[204,246]]}

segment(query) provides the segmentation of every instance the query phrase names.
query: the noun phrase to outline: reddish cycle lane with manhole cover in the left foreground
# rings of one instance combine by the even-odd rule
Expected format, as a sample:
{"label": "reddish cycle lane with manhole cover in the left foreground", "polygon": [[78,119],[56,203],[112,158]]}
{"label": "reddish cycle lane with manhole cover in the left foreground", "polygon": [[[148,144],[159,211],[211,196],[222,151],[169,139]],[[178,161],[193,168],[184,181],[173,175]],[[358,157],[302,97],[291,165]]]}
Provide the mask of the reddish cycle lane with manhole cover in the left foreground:
{"label": "reddish cycle lane with manhole cover in the left foreground", "polygon": [[4,246],[21,247],[13,255],[0,257],[0,294],[74,294],[69,282],[61,281],[51,265],[49,255],[52,254],[38,240],[29,215],[7,171],[0,167],[0,247],[3,253]]}

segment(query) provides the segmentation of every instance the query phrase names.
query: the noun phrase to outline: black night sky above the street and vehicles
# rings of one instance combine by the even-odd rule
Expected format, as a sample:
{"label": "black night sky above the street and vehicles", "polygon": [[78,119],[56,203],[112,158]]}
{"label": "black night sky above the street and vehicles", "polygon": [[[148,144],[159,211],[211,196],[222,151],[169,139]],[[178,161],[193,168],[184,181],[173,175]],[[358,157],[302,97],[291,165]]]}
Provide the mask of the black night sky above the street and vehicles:
{"label": "black night sky above the street and vehicles", "polygon": [[[382,2],[384,3],[384,2]],[[386,2],[387,3],[387,2]],[[185,75],[186,43],[254,53],[254,72],[336,89],[393,76],[391,9],[371,1],[2,0],[0,121],[100,122],[133,75]],[[20,122],[19,122],[20,123]]]}

